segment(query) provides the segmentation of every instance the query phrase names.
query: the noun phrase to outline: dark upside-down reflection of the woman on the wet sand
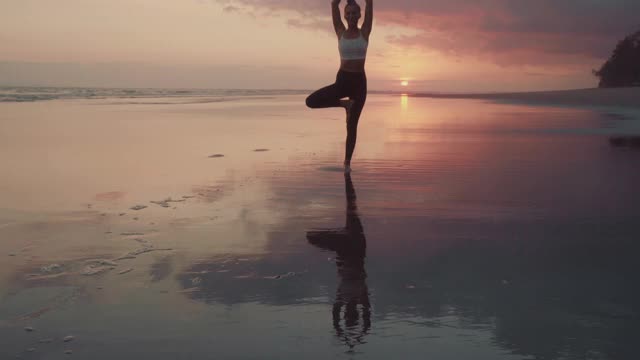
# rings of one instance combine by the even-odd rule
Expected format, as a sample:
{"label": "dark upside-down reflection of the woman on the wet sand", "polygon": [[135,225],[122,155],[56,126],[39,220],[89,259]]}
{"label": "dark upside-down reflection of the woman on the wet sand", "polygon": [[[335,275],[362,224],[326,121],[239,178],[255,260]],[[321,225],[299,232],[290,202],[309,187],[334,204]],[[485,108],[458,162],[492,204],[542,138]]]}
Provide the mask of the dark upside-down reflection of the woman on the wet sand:
{"label": "dark upside-down reflection of the woman on the wet sand", "polygon": [[[307,232],[309,242],[317,247],[336,252],[336,266],[340,276],[340,284],[333,304],[333,327],[336,336],[351,349],[364,343],[364,336],[371,328],[371,304],[367,288],[367,273],[364,269],[364,258],[367,240],[358,216],[356,193],[347,173],[345,192],[347,197],[347,214],[344,228],[323,229]],[[362,327],[358,328],[362,309]],[[344,308],[344,317],[342,317]],[[345,327],[341,325],[344,320]]]}

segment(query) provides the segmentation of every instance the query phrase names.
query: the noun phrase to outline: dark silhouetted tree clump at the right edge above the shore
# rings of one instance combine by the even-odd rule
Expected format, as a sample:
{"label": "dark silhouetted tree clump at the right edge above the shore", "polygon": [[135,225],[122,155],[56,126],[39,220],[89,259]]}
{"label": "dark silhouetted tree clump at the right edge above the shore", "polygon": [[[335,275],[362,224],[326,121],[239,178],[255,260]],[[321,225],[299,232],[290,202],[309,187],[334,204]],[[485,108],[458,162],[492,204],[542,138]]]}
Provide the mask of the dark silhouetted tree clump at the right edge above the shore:
{"label": "dark silhouetted tree clump at the right edge above the shore", "polygon": [[640,86],[640,30],[618,42],[611,57],[594,70],[599,87]]}

